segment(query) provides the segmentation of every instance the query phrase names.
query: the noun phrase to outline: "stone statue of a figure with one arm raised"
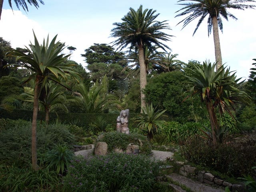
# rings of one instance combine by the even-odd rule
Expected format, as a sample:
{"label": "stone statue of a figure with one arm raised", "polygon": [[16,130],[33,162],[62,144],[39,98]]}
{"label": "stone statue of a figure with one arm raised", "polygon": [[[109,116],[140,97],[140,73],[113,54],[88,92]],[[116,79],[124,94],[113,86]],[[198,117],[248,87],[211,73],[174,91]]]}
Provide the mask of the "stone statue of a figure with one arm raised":
{"label": "stone statue of a figure with one arm raised", "polygon": [[120,112],[120,116],[116,119],[116,131],[130,134],[130,130],[128,128],[128,116],[129,116],[129,109],[122,110]]}

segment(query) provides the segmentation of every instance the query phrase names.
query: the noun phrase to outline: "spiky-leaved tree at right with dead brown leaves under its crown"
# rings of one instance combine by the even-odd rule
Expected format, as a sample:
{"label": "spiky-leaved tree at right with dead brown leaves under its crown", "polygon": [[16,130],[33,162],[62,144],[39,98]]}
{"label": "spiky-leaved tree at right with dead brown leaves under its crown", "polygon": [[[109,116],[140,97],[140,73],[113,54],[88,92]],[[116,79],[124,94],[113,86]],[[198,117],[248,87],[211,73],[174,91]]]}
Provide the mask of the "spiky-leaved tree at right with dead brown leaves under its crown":
{"label": "spiky-leaved tree at right with dead brown leaves under its crown", "polygon": [[[238,103],[248,104],[250,96],[244,91],[241,91],[240,85],[244,81],[240,81],[241,78],[236,79],[235,73],[230,69],[221,66],[215,72],[214,68],[216,64],[208,62],[203,63],[203,69],[199,66],[194,66],[188,78],[188,87],[192,94],[200,94],[202,102],[206,104],[208,110],[212,144],[215,146],[218,141],[218,133],[220,125],[217,119],[217,112],[223,117],[223,111],[227,111],[230,116],[233,117],[231,111],[235,110],[235,105]],[[217,111],[218,110],[218,111]]]}

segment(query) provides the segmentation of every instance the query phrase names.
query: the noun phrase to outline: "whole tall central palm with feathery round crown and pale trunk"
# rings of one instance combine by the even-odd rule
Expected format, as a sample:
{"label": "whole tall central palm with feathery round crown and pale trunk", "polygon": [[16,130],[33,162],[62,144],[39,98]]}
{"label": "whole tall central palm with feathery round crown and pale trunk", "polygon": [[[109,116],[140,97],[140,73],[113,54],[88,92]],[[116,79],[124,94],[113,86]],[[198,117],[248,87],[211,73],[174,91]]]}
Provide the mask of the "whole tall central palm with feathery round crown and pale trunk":
{"label": "whole tall central palm with feathery round crown and pale trunk", "polygon": [[138,49],[139,63],[140,63],[140,100],[141,100],[141,112],[146,107],[144,100],[143,89],[146,86],[146,65],[144,59],[144,49],[147,46],[150,50],[157,45],[163,50],[165,48],[170,49],[167,45],[160,42],[170,40],[171,35],[168,35],[161,30],[170,29],[167,26],[166,20],[160,22],[156,21],[159,14],[155,14],[156,10],[145,9],[142,10],[142,5],[138,10],[130,8],[130,11],[122,18],[123,22],[116,22],[113,25],[116,26],[111,30],[111,37],[118,38],[113,41],[114,46],[118,46],[118,49],[123,49],[130,45],[132,48]]}

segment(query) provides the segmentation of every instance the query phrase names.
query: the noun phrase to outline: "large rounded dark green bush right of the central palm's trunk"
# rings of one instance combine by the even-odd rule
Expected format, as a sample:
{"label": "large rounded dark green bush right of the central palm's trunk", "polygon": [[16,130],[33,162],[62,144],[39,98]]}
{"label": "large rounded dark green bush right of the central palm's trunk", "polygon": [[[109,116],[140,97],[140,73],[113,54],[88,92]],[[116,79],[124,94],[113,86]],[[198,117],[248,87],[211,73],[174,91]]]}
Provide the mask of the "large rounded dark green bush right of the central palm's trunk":
{"label": "large rounded dark green bush right of the central palm's trunk", "polygon": [[192,98],[184,101],[187,78],[184,72],[172,71],[150,78],[145,88],[146,101],[158,109],[166,109],[179,122],[198,121],[203,117],[200,100]]}

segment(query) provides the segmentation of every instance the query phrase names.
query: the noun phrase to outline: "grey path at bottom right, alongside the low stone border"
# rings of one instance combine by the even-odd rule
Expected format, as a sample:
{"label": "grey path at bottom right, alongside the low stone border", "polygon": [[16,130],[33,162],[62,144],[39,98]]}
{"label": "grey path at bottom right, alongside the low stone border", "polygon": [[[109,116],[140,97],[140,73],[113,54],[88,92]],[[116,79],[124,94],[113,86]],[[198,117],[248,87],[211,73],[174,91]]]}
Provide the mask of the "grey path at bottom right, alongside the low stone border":
{"label": "grey path at bottom right, alongside the low stone border", "polygon": [[[167,180],[172,180],[174,182],[178,182],[180,185],[186,186],[193,192],[225,192],[225,190],[221,188],[214,188],[212,186],[208,186],[206,184],[202,184],[201,182],[194,181],[192,179],[186,178],[185,176],[172,173],[166,175]],[[177,191],[179,192],[179,191]],[[181,191],[182,192],[182,191]]]}

